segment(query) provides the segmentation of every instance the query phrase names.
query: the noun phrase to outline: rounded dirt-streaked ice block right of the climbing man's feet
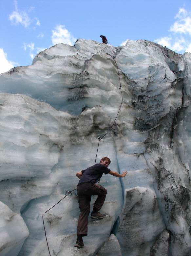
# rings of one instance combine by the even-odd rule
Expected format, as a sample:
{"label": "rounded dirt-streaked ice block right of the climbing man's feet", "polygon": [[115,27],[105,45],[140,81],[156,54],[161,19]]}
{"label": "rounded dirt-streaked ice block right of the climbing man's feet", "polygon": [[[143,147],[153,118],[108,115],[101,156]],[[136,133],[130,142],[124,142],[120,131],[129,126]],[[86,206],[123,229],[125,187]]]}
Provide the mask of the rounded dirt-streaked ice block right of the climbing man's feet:
{"label": "rounded dirt-streaked ice block right of the climbing man's feet", "polygon": [[125,190],[120,220],[117,238],[124,255],[149,255],[152,241],[165,229],[156,194],[145,187]]}

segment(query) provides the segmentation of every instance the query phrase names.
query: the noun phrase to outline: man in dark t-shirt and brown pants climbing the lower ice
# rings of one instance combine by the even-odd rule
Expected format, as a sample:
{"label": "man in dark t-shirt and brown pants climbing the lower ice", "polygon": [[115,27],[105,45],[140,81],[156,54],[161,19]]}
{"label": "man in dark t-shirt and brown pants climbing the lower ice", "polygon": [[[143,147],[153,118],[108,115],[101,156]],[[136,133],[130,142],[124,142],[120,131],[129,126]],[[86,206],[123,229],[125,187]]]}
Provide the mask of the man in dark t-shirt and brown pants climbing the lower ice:
{"label": "man in dark t-shirt and brown pants climbing the lower ice", "polygon": [[105,214],[101,214],[99,210],[102,208],[107,190],[101,185],[96,184],[103,173],[111,174],[115,177],[123,178],[127,174],[127,171],[124,171],[122,174],[111,171],[107,166],[110,164],[110,159],[108,157],[103,157],[99,164],[88,167],[86,170],[82,170],[76,173],[76,176],[80,179],[77,185],[77,194],[78,194],[78,203],[80,208],[80,215],[78,219],[77,227],[77,241],[74,245],[75,247],[81,248],[84,247],[82,237],[87,236],[87,222],[90,212],[90,201],[92,195],[97,195],[97,199],[94,203],[93,211],[91,213],[92,219],[103,219]]}

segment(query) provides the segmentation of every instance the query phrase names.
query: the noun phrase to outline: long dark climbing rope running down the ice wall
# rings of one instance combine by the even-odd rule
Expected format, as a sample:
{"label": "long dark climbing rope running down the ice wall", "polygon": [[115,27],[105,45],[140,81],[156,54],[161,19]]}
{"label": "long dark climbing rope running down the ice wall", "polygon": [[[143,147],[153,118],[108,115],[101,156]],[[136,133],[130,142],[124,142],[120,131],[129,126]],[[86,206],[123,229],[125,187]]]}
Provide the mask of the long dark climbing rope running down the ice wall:
{"label": "long dark climbing rope running down the ice wall", "polygon": [[[110,45],[110,47],[111,47],[111,45]],[[105,48],[107,48],[107,49],[109,49],[110,47],[105,47]],[[105,48],[103,48],[102,50],[104,50]],[[101,50],[101,51],[102,51]],[[99,52],[101,52],[101,51],[99,51]],[[91,53],[91,54],[95,54],[95,53],[99,53],[99,52],[94,52],[94,53]],[[115,62],[115,64],[116,64],[116,66],[117,66],[117,71],[118,71],[118,76],[119,76],[119,68],[118,68],[118,65],[117,65],[117,63],[116,63],[116,61],[114,60],[114,62]],[[122,88],[122,86],[121,86],[121,81],[120,81],[120,76],[119,76],[119,83],[120,83],[120,90],[121,90],[121,88]],[[99,144],[100,144],[100,141],[105,137],[105,135],[112,129],[112,127],[113,127],[113,125],[114,125],[114,123],[115,123],[115,121],[116,121],[116,119],[117,119],[117,116],[118,116],[118,114],[119,114],[119,111],[120,111],[120,109],[121,109],[121,106],[122,106],[122,103],[123,103],[123,94],[122,94],[122,90],[121,90],[121,96],[122,96],[122,101],[121,101],[121,105],[120,105],[120,107],[119,107],[119,110],[118,110],[118,113],[117,113],[117,115],[116,115],[116,117],[115,117],[115,120],[114,120],[114,122],[113,122],[113,124],[112,124],[112,126],[109,128],[109,130],[102,136],[102,137],[98,137],[98,140],[99,140],[99,142],[98,142],[98,147],[97,147],[97,152],[96,152],[96,158],[95,158],[95,163],[96,163],[96,159],[97,159],[97,154],[98,154],[98,148],[99,148]],[[100,183],[100,181],[98,181],[98,184]],[[65,196],[59,201],[59,202],[57,202],[55,205],[53,205],[50,209],[48,209],[45,213],[47,213],[49,210],[51,210],[54,206],[56,206],[58,203],[60,203],[65,197],[67,197],[68,195],[72,195],[72,192],[73,191],[75,191],[75,190],[77,190],[77,188],[76,189],[74,189],[74,190],[71,190],[71,191],[67,191],[66,190],[66,192],[65,192]],[[44,226],[44,231],[45,231],[45,237],[46,237],[46,241],[47,241],[47,247],[48,247],[48,252],[49,252],[49,256],[51,256],[51,254],[50,254],[50,250],[49,250],[49,246],[48,246],[48,240],[47,240],[47,234],[46,234],[46,229],[45,229],[45,223],[44,223],[44,214],[45,213],[43,213],[43,226]]]}

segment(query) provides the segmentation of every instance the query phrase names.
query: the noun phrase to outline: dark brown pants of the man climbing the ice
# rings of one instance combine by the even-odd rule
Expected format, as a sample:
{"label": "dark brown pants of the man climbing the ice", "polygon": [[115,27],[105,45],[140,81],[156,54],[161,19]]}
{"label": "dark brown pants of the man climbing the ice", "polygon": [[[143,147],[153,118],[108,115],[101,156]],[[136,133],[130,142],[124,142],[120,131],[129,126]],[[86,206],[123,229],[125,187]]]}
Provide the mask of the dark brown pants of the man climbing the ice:
{"label": "dark brown pants of the man climbing the ice", "polygon": [[87,221],[90,212],[90,201],[92,195],[97,195],[94,203],[94,208],[97,212],[102,208],[107,190],[101,185],[96,185],[92,182],[85,182],[77,187],[77,194],[79,197],[80,216],[78,219],[77,234],[87,236]]}

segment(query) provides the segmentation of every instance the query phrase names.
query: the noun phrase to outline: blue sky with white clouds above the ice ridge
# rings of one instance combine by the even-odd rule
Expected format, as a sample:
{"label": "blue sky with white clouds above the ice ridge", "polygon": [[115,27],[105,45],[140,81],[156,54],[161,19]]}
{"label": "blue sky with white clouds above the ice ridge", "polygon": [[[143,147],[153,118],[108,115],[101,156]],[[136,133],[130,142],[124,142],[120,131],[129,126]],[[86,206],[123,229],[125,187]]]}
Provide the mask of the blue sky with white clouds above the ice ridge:
{"label": "blue sky with white clouds above the ice ridge", "polygon": [[56,43],[101,42],[101,34],[113,46],[146,39],[191,52],[191,1],[0,0],[0,73]]}

